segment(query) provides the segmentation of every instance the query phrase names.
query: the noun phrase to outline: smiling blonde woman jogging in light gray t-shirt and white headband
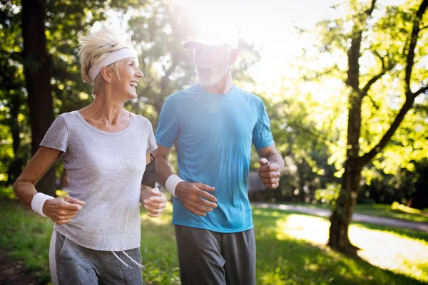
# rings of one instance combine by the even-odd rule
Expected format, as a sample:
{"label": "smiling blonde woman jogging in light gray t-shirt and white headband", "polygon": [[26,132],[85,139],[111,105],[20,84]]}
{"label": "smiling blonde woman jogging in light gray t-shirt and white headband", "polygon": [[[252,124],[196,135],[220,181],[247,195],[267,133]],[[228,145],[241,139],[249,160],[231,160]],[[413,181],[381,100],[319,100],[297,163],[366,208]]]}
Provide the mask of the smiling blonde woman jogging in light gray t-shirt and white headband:
{"label": "smiling blonde woman jogging in light gray t-shirt and white headband", "polygon": [[[59,115],[14,184],[27,207],[56,224],[49,261],[54,284],[143,284],[139,202],[158,217],[166,198],[141,187],[156,150],[152,125],[123,104],[136,98],[143,73],[131,38],[108,28],[79,38],[83,81],[93,103]],[[64,162],[70,191],[54,198],[34,185]]]}

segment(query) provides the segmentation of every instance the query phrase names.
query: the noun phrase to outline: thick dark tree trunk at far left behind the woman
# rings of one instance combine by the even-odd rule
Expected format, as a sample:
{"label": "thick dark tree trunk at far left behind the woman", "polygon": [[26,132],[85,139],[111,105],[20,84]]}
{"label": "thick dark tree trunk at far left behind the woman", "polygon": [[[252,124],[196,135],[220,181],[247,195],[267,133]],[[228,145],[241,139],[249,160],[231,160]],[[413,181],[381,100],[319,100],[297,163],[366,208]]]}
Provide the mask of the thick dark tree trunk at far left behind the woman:
{"label": "thick dark tree trunk at far left behind the woman", "polygon": [[[51,93],[51,57],[46,50],[45,11],[41,0],[22,0],[24,74],[31,121],[31,152],[34,155],[54,121]],[[55,170],[51,168],[36,185],[39,192],[55,195]]]}

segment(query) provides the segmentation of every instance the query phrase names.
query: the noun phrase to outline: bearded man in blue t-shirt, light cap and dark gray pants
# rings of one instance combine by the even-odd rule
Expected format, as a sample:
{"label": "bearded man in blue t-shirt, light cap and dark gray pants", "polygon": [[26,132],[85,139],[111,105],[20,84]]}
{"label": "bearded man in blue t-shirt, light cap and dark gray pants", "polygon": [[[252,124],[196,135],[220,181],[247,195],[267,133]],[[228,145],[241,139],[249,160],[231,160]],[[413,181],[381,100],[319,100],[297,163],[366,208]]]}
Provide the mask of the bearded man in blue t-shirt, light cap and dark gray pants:
{"label": "bearded man in blue t-shirt, light cap and dark gray pants", "polygon": [[[238,41],[194,40],[199,84],[170,95],[156,132],[158,182],[173,195],[182,284],[255,284],[255,236],[248,199],[251,144],[258,174],[279,185],[283,160],[263,101],[235,86]],[[176,142],[180,176],[168,163]]]}

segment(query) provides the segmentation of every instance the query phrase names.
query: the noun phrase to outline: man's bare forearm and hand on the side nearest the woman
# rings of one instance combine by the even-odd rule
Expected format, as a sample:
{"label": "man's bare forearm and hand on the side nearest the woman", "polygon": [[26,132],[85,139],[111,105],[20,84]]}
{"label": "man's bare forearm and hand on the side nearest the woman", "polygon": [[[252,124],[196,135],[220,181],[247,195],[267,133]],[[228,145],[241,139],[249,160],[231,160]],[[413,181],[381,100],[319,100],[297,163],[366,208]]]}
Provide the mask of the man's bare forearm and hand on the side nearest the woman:
{"label": "man's bare forearm and hand on the side nearest the woman", "polygon": [[[165,186],[168,178],[174,175],[173,167],[168,162],[169,147],[158,145],[158,149],[154,152],[156,160],[156,176],[158,182]],[[206,212],[213,211],[217,207],[217,199],[208,194],[207,191],[214,191],[214,187],[198,182],[179,182],[175,186],[175,190],[168,189],[171,193],[175,192],[175,196],[180,199],[183,206],[193,214],[206,216]]]}

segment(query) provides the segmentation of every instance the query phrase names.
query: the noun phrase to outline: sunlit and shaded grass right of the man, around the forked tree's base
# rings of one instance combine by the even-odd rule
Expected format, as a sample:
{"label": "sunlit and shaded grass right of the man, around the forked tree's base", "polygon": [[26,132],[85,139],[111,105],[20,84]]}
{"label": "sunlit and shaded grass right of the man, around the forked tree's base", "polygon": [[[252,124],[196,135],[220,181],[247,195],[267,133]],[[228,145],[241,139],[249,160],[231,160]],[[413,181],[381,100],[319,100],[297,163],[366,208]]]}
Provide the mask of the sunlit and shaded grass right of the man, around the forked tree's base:
{"label": "sunlit and shaded grass right of the man, around the forked tree's base", "polygon": [[[254,209],[253,216],[258,235],[260,284],[423,284],[428,281],[426,233],[352,224],[351,242],[362,249],[360,258],[354,259],[325,247],[330,227],[325,218],[260,208]],[[277,265],[272,270],[275,259]]]}

